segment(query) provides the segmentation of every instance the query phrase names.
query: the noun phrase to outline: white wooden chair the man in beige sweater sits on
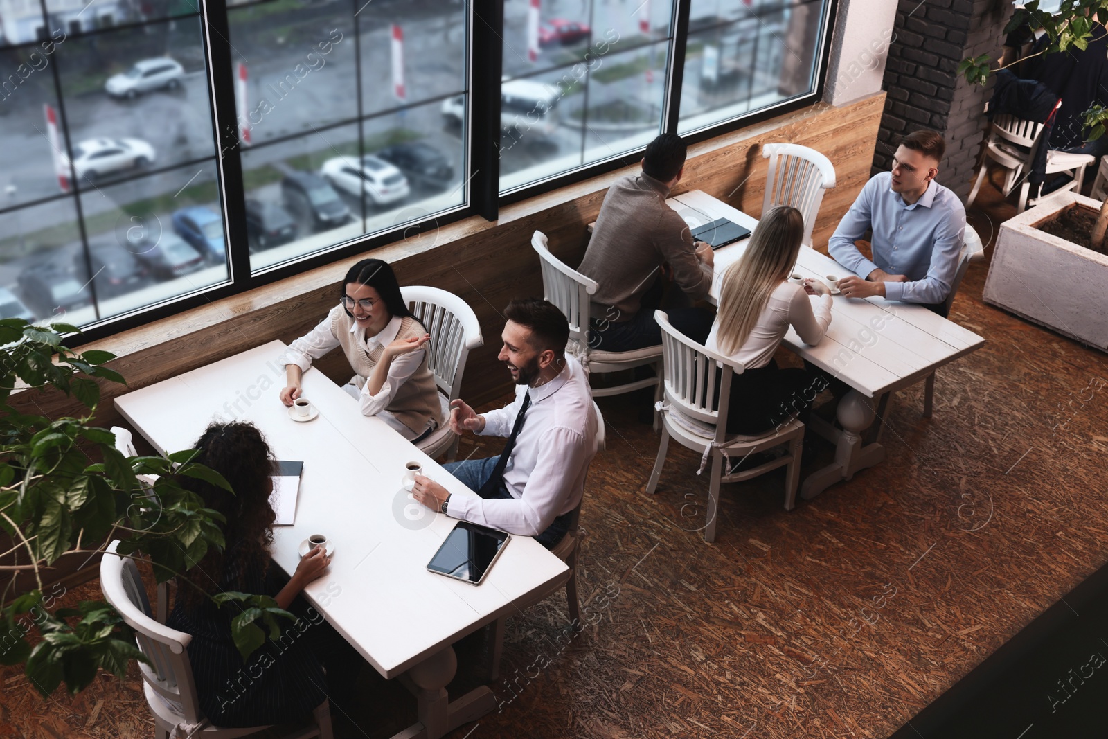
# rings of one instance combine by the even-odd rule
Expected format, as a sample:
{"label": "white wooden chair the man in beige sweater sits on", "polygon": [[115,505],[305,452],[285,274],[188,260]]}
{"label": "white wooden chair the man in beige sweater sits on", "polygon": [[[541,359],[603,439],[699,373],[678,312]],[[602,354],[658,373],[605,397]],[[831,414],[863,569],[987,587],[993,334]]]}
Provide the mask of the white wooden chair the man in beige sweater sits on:
{"label": "white wooden chair the man in beige sweater sits on", "polygon": [[593,397],[605,398],[632,392],[639,388],[658,387],[655,398],[660,398],[660,384],[657,376],[660,374],[658,370],[661,361],[661,346],[633,351],[593,349],[592,343],[589,343],[588,296],[595,295],[596,280],[585,277],[551,254],[546,247],[545,234],[536,230],[531,237],[531,246],[538,253],[543,269],[543,297],[557,306],[570,321],[570,342],[566,345],[566,351],[577,358],[585,372],[618,372],[646,365],[655,368],[655,377],[608,388],[594,388]]}

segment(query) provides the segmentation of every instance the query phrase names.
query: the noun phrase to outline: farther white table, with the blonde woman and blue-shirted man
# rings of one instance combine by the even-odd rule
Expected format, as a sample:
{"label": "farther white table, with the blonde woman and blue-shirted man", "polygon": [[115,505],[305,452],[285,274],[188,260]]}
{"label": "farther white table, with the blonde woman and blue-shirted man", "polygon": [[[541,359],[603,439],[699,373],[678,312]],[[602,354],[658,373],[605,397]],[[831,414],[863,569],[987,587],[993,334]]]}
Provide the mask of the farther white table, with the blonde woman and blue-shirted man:
{"label": "farther white table, with the blonde woman and blue-shirted man", "polygon": [[[701,191],[683,193],[668,203],[694,227],[725,217],[751,232],[758,225],[755,218]],[[742,256],[748,242],[743,239],[716,250],[716,279],[709,298],[712,302],[718,299],[724,270]],[[801,247],[793,271],[804,277],[839,278],[853,274],[807,246]],[[863,444],[861,434],[873,423],[876,412],[884,410],[889,393],[919,382],[936,368],[985,345],[982,337],[923,306],[884,298],[833,296],[833,299],[831,326],[819,345],[804,343],[792,328],[782,341],[852,388],[837,409],[841,430],[814,414],[811,417],[809,428],[835,444],[835,461],[804,479],[801,496],[806,499],[884,460],[884,448],[876,441]],[[882,408],[874,408],[875,400]]]}

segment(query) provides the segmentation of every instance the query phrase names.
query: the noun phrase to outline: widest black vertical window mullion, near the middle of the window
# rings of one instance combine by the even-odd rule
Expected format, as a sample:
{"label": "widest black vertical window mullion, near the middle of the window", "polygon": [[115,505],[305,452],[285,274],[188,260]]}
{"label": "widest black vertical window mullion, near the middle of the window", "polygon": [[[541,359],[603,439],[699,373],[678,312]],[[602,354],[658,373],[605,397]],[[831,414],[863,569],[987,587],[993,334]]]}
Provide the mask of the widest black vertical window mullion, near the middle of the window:
{"label": "widest black vertical window mullion, near the middle of the window", "polygon": [[[470,4],[470,205],[495,220],[500,201],[500,76],[503,70],[504,2]],[[480,50],[480,52],[479,52]]]}

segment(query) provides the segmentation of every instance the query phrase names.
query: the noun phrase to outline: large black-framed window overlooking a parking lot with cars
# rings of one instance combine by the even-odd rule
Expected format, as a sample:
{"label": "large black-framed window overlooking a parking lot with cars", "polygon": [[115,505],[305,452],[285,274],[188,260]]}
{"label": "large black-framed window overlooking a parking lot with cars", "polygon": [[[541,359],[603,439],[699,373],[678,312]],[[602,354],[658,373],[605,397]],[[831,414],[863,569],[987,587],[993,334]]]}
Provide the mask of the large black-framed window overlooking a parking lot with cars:
{"label": "large black-framed window overlooking a parking lot with cars", "polygon": [[804,104],[830,6],[0,0],[0,317],[106,333]]}

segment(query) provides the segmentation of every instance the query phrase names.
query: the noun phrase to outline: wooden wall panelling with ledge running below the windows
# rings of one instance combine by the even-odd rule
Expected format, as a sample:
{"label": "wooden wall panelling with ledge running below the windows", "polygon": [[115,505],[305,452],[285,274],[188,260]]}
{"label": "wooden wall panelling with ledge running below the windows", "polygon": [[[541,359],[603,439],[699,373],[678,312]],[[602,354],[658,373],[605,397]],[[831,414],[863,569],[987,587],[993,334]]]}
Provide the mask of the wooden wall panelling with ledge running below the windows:
{"label": "wooden wall panelling with ledge running below the windows", "polygon": [[[756,126],[701,142],[689,151],[685,177],[676,192],[704,189],[750,213],[761,213],[766,160],[760,145],[790,141],[823,152],[835,165],[838,186],[823,198],[813,234],[825,248],[839,217],[869,178],[878,125],[884,105],[879,94],[843,107],[814,105]],[[507,373],[496,360],[503,319],[500,311],[513,297],[542,295],[538,260],[531,234],[542,230],[551,250],[567,264],[584,255],[586,224],[596,219],[608,185],[633,167],[577,183],[503,208],[496,223],[468,218],[376,249],[401,284],[434,285],[455,292],[473,307],[485,346],[470,355],[463,397],[482,402],[503,394]],[[444,248],[431,248],[445,245]],[[90,345],[120,356],[112,365],[131,389],[145,387],[273,339],[291,341],[307,332],[335,305],[339,281],[353,258],[308,270],[208,306],[184,311]],[[337,353],[320,362],[335,380],[350,369]],[[122,421],[111,400],[125,388],[104,386],[96,422]],[[276,402],[276,392],[275,402]],[[25,393],[14,404],[52,418],[78,412],[57,393]]]}

